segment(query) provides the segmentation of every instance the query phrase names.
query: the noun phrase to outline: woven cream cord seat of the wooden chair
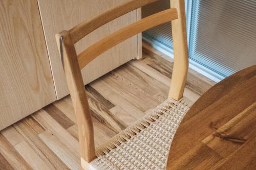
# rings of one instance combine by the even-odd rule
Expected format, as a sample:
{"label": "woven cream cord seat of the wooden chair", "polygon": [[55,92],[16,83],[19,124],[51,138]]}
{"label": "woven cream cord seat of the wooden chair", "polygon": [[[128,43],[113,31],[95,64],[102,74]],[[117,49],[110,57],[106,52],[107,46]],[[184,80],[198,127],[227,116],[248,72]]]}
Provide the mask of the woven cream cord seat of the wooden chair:
{"label": "woven cream cord seat of the wooden chair", "polygon": [[164,169],[170,143],[189,103],[184,98],[178,102],[167,99],[104,144],[90,169]]}

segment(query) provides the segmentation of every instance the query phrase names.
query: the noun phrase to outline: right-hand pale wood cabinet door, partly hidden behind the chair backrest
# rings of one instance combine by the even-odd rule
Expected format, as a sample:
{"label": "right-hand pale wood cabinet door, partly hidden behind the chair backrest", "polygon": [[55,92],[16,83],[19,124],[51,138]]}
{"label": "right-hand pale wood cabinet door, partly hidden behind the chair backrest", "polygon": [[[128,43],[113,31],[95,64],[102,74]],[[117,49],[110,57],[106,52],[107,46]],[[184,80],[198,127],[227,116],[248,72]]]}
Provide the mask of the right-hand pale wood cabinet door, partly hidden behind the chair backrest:
{"label": "right-hand pale wood cabinet door, partly hidden behind the chair backrest", "polygon": [[[81,21],[125,1],[127,0],[38,0],[58,99],[67,95],[69,91],[55,42],[55,34],[62,30],[69,30]],[[97,40],[135,21],[137,21],[136,10],[111,21],[79,41],[76,44],[77,53],[79,54]],[[84,84],[138,57],[140,41],[136,35],[92,61],[82,70]]]}

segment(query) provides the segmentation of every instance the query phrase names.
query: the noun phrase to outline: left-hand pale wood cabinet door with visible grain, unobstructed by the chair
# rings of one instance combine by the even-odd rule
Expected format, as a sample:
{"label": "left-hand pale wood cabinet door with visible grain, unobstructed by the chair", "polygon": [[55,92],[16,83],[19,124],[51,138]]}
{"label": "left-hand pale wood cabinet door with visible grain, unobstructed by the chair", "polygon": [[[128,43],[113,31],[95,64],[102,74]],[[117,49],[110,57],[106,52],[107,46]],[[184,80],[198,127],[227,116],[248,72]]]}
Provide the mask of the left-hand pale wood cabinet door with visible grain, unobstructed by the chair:
{"label": "left-hand pale wood cabinet door with visible grain, unobstructed by the chair", "polygon": [[36,0],[0,1],[0,130],[56,100]]}

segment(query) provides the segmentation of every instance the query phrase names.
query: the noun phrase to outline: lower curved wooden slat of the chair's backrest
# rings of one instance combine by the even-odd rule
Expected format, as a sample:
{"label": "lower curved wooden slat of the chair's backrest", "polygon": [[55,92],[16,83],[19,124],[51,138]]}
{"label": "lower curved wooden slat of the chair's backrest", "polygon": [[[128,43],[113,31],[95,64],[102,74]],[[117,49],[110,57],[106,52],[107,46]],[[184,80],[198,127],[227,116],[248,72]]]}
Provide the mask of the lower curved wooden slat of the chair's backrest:
{"label": "lower curved wooden slat of the chair's backrest", "polygon": [[78,55],[80,69],[118,43],[162,23],[178,19],[176,8],[167,9],[124,27],[89,46]]}

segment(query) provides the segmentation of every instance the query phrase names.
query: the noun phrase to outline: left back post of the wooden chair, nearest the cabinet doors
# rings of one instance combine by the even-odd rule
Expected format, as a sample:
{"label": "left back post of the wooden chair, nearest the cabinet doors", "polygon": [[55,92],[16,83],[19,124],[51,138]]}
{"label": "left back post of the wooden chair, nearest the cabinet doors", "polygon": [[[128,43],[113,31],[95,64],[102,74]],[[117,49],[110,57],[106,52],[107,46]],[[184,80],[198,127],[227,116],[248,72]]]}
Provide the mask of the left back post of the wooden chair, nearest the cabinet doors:
{"label": "left back post of the wooden chair, nearest the cabinet doors", "polygon": [[67,84],[76,114],[80,157],[81,163],[84,165],[84,162],[90,162],[96,158],[93,123],[86,90],[83,85],[74,42],[69,31],[62,31],[59,34],[56,34],[56,42],[58,44],[59,52],[62,53],[60,56],[63,57],[63,69],[65,71]]}

